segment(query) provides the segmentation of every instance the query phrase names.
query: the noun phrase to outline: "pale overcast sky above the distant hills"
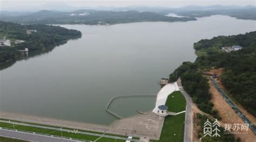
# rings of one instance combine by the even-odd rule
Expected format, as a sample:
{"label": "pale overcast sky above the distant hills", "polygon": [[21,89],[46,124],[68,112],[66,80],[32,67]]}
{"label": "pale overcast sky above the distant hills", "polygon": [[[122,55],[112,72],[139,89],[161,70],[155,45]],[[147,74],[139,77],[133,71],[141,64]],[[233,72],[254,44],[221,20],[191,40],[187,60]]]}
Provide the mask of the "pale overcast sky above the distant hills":
{"label": "pale overcast sky above the distant hills", "polygon": [[[1,10],[24,10],[39,8],[43,5],[69,5],[69,6],[170,6],[181,7],[186,5],[255,5],[256,0],[0,0]],[[44,6],[42,7],[44,8]]]}

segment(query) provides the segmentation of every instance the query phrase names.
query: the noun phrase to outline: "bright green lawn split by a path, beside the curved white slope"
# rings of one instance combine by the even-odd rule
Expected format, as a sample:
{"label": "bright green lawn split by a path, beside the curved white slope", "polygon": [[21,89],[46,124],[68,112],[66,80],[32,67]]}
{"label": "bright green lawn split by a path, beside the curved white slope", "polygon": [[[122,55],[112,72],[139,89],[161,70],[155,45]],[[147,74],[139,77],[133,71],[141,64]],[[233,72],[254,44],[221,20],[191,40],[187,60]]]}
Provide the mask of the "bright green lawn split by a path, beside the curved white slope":
{"label": "bright green lawn split by a path, beside the curved white slope", "polygon": [[[186,109],[186,99],[180,91],[175,91],[169,95],[165,105],[169,107],[168,111],[181,112]],[[164,120],[164,126],[159,141],[183,142],[184,121],[185,113],[178,114],[177,116],[167,116]]]}

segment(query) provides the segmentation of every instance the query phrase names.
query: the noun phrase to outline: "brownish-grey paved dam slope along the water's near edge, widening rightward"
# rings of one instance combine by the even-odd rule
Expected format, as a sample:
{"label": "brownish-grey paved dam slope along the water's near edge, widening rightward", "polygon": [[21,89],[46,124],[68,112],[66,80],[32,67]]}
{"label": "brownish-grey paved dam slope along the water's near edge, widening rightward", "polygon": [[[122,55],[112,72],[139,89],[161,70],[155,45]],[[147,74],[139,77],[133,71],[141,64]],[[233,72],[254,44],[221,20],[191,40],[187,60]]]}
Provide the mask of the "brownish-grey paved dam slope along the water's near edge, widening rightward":
{"label": "brownish-grey paved dam slope along the water's near edge, widening rightward", "polygon": [[[114,134],[124,137],[148,137],[153,140],[158,140],[160,138],[159,132],[162,129],[161,124],[164,123],[164,119],[159,119],[159,116],[153,112],[115,120],[109,125],[80,123],[8,112],[0,112],[0,119],[33,123],[35,125],[48,125],[51,127],[65,127],[74,130],[90,131],[92,133]],[[154,123],[150,124],[152,121]],[[150,127],[147,126],[148,124]],[[152,129],[152,127],[154,129]],[[134,130],[136,130],[136,133],[134,133]]]}

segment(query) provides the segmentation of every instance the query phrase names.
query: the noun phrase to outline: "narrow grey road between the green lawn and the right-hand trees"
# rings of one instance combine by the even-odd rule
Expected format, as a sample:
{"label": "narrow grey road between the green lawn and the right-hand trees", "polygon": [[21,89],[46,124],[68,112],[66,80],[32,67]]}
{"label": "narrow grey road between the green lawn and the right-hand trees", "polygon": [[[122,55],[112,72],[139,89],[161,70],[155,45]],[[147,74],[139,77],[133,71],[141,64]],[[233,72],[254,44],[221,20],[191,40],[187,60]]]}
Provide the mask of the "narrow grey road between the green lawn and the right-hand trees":
{"label": "narrow grey road between the green lawn and the right-hand trees", "polygon": [[181,85],[180,78],[177,80],[180,92],[184,95],[186,99],[186,116],[185,116],[185,129],[184,129],[184,141],[191,142],[193,139],[193,118],[192,118],[192,100],[191,97],[184,91]]}

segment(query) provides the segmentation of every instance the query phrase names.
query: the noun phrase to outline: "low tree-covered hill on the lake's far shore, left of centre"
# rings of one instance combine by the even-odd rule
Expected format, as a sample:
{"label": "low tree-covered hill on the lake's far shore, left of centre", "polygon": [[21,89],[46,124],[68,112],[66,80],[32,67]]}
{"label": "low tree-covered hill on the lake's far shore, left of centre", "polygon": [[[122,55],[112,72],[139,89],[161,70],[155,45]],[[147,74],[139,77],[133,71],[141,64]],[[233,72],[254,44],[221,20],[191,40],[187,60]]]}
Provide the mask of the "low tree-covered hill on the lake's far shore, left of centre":
{"label": "low tree-covered hill on the lake's far shore, left of centre", "polygon": [[25,24],[118,24],[131,22],[196,21],[191,17],[167,17],[154,12],[76,10],[71,12],[41,10],[22,16],[4,16],[3,21]]}

